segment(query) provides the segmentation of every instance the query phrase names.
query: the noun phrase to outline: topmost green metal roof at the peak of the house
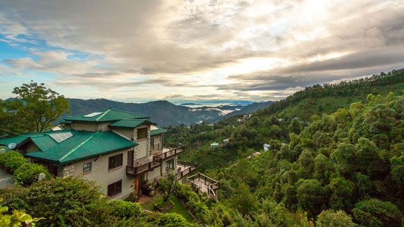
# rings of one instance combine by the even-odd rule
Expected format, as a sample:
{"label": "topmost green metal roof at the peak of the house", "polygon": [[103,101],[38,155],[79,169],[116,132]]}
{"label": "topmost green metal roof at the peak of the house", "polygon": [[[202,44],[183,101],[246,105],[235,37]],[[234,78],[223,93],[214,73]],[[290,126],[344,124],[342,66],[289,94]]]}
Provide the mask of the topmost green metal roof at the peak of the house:
{"label": "topmost green metal roof at the peak of the house", "polygon": [[100,114],[97,114],[95,116],[91,117],[86,117],[89,114],[82,114],[79,116],[72,116],[65,118],[64,120],[66,121],[72,121],[72,120],[81,120],[81,121],[96,121],[96,122],[102,122],[102,121],[113,121],[113,120],[121,120],[121,119],[145,119],[149,118],[146,115],[142,114],[135,114],[127,111],[122,111],[118,109],[107,109],[104,111],[98,112]]}

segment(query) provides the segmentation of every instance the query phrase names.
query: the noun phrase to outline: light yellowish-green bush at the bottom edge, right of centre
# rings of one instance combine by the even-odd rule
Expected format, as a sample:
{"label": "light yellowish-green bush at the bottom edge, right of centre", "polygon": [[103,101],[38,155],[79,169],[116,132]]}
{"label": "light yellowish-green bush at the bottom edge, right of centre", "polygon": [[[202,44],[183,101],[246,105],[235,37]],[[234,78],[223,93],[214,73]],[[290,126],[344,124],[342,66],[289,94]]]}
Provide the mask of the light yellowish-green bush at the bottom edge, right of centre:
{"label": "light yellowish-green bush at the bottom edge, right of centre", "polygon": [[316,221],[317,226],[321,227],[356,227],[357,224],[352,222],[352,217],[348,214],[339,210],[335,212],[334,210],[323,210],[317,216]]}

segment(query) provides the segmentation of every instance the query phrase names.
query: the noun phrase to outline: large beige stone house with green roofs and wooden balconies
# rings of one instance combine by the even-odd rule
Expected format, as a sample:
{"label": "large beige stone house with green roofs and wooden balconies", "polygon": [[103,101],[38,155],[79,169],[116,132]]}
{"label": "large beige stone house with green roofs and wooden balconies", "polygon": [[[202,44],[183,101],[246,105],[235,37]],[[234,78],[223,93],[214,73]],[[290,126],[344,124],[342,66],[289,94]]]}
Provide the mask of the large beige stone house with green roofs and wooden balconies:
{"label": "large beige stone house with green roofs and wooden balconies", "polygon": [[153,182],[170,170],[181,180],[196,168],[178,164],[177,155],[185,147],[164,147],[166,130],[148,116],[107,109],[65,118],[61,126],[0,139],[0,145],[17,143],[15,150],[47,166],[54,176],[95,180],[114,199],[131,193],[140,196],[146,181]]}

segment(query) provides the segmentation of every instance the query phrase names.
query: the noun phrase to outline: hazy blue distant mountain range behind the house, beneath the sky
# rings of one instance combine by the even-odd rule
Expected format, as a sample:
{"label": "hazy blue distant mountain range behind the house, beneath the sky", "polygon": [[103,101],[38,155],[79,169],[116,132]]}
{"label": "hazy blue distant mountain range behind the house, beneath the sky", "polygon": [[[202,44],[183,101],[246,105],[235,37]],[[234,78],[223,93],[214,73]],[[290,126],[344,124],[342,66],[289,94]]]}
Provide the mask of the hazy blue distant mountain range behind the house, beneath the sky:
{"label": "hazy blue distant mountain range behind the house, beneath the sky", "polygon": [[68,98],[68,100],[70,101],[70,111],[72,111],[72,113],[63,114],[61,116],[61,119],[67,116],[77,116],[80,114],[87,114],[112,107],[115,109],[121,109],[138,114],[145,114],[147,116],[150,116],[150,120],[162,126],[180,124],[192,125],[201,121],[216,123],[219,120],[223,119],[224,113],[226,113],[226,111],[228,111],[229,109],[231,109],[232,111],[237,108],[241,110],[246,109],[247,112],[250,112],[250,109],[254,109],[254,111],[256,111],[257,108],[261,109],[267,107],[267,105],[265,106],[263,103],[253,103],[245,107],[221,106],[189,108],[178,106],[165,100],[146,103],[126,103],[106,99],[81,100]]}

